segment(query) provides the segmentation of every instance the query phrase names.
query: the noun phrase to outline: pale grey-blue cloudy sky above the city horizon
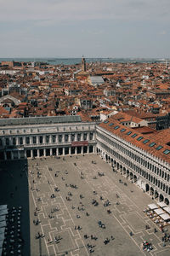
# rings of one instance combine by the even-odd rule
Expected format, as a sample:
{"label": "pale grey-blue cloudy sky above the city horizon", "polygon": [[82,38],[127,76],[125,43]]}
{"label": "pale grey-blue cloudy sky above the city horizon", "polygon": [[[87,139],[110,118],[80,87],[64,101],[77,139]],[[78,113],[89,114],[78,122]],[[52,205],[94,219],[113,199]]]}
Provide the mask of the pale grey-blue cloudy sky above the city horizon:
{"label": "pale grey-blue cloudy sky above the city horizon", "polygon": [[0,58],[170,58],[170,0],[0,0]]}

